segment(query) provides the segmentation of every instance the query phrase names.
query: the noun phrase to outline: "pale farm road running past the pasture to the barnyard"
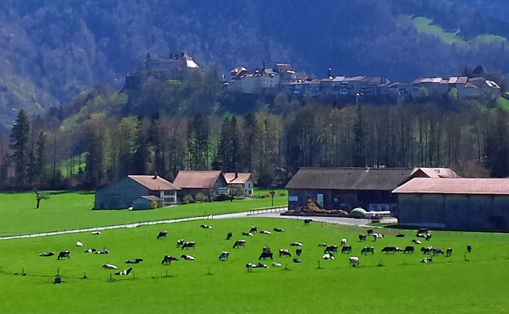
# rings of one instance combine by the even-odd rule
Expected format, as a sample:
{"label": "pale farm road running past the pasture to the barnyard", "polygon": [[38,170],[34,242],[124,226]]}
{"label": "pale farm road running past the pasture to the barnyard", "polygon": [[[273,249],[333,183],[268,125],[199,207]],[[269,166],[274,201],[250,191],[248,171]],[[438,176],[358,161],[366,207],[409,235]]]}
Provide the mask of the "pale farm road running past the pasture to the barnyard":
{"label": "pale farm road running past the pasture to the barnyard", "polygon": [[113,230],[121,228],[136,228],[140,226],[152,226],[159,224],[173,224],[180,222],[204,220],[204,219],[230,219],[230,218],[246,218],[246,217],[264,217],[264,218],[281,218],[281,219],[313,219],[315,222],[325,222],[329,224],[340,224],[340,225],[351,225],[351,226],[363,226],[369,223],[367,219],[352,219],[352,218],[340,218],[340,217],[303,217],[303,216],[281,216],[280,212],[288,210],[288,208],[279,208],[275,212],[267,212],[267,210],[251,210],[246,212],[231,213],[231,214],[219,214],[219,215],[208,215],[208,216],[197,216],[177,219],[165,219],[153,222],[139,222],[133,224],[122,224],[115,226],[104,226],[104,227],[93,227],[93,228],[82,228],[74,230],[63,230],[63,231],[50,231],[32,234],[12,235],[0,237],[0,240],[11,240],[11,239],[24,239],[24,238],[37,238],[52,235],[80,233],[80,232],[92,232],[92,231],[103,231]]}

